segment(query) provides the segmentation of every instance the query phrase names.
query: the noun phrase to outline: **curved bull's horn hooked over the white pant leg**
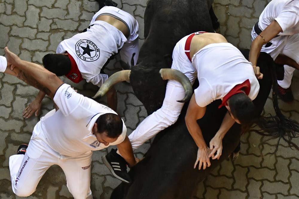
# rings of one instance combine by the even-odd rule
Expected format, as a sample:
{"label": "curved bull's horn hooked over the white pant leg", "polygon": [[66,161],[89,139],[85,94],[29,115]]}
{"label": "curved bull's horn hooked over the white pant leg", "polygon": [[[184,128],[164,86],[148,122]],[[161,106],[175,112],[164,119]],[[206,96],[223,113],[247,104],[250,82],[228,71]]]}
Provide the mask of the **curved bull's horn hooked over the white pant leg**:
{"label": "curved bull's horn hooked over the white pant leg", "polygon": [[193,92],[192,85],[190,83],[190,80],[186,77],[186,75],[184,75],[184,73],[170,68],[162,68],[160,70],[160,74],[163,80],[173,79],[183,85],[185,96],[183,99],[178,100],[178,102],[184,103],[191,98]]}

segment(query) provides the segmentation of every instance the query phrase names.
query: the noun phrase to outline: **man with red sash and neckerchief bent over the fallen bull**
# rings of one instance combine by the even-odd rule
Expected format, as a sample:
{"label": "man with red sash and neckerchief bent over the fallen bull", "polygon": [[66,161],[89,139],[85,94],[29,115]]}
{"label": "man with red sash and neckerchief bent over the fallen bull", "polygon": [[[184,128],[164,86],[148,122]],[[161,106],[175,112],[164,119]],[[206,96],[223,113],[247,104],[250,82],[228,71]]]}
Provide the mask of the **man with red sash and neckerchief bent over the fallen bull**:
{"label": "man with red sash and neckerchief bent over the fallen bull", "polygon": [[[191,84],[198,78],[199,87],[194,90],[185,120],[199,148],[194,168],[199,161],[199,169],[205,169],[210,166],[210,157],[220,157],[222,138],[231,126],[235,122],[248,124],[254,118],[252,100],[260,89],[257,80],[257,77],[261,78],[259,68],[256,77],[251,63],[236,47],[222,35],[206,32],[190,34],[176,44],[171,68],[184,73]],[[145,118],[129,135],[133,150],[177,121],[184,105],[177,100],[184,95],[184,88],[179,82],[168,80],[162,107]],[[219,108],[225,106],[228,112],[208,148],[196,121],[205,115],[206,106],[216,99],[222,100]],[[118,153],[122,155],[120,151]],[[113,163],[121,158],[110,153],[102,158],[113,174]],[[122,172],[126,173],[126,170]]]}

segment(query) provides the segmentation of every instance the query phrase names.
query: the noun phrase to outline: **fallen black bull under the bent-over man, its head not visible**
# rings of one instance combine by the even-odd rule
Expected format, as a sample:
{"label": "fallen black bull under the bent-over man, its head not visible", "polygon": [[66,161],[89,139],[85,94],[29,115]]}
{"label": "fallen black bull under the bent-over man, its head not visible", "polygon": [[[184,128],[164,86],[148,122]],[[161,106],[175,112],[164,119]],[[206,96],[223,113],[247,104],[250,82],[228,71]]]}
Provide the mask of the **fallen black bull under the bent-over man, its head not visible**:
{"label": "fallen black bull under the bent-over man, its head not visible", "polygon": [[[248,57],[248,51],[243,53]],[[273,60],[268,54],[261,53],[258,64],[264,78],[259,80],[260,92],[254,100],[257,116],[263,111],[271,90],[270,67],[273,67]],[[196,86],[198,84],[193,87]],[[209,104],[205,116],[198,121],[207,144],[219,130],[227,111],[225,107],[218,109],[219,104],[221,100]],[[231,127],[222,141],[220,159],[212,160],[211,166],[205,170],[193,169],[198,148],[185,125],[187,106],[186,103],[175,124],[158,133],[144,160],[131,169],[130,175],[134,179],[132,185],[120,184],[113,191],[111,199],[192,198],[198,182],[205,179],[212,169],[234,151],[241,135],[241,126],[237,123]]]}

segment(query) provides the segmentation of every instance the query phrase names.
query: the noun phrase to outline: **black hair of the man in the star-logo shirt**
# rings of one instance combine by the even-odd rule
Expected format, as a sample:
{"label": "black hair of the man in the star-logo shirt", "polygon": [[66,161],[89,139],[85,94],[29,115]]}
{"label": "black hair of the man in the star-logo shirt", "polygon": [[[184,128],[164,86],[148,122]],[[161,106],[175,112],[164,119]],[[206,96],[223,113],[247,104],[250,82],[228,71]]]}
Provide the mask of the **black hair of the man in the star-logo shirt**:
{"label": "black hair of the man in the star-logo shirt", "polygon": [[47,54],[42,58],[45,68],[57,76],[68,74],[71,70],[70,58],[62,54]]}

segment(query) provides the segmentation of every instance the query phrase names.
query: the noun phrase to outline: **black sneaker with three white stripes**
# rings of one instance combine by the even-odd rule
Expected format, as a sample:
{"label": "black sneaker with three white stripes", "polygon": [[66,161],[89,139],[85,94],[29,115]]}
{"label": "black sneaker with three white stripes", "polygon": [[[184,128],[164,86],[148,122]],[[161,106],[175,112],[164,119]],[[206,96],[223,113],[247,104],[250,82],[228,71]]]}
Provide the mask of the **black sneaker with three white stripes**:
{"label": "black sneaker with three white stripes", "polygon": [[126,183],[132,183],[127,172],[127,163],[123,157],[116,153],[116,149],[111,149],[110,153],[102,157],[102,160],[115,178]]}

